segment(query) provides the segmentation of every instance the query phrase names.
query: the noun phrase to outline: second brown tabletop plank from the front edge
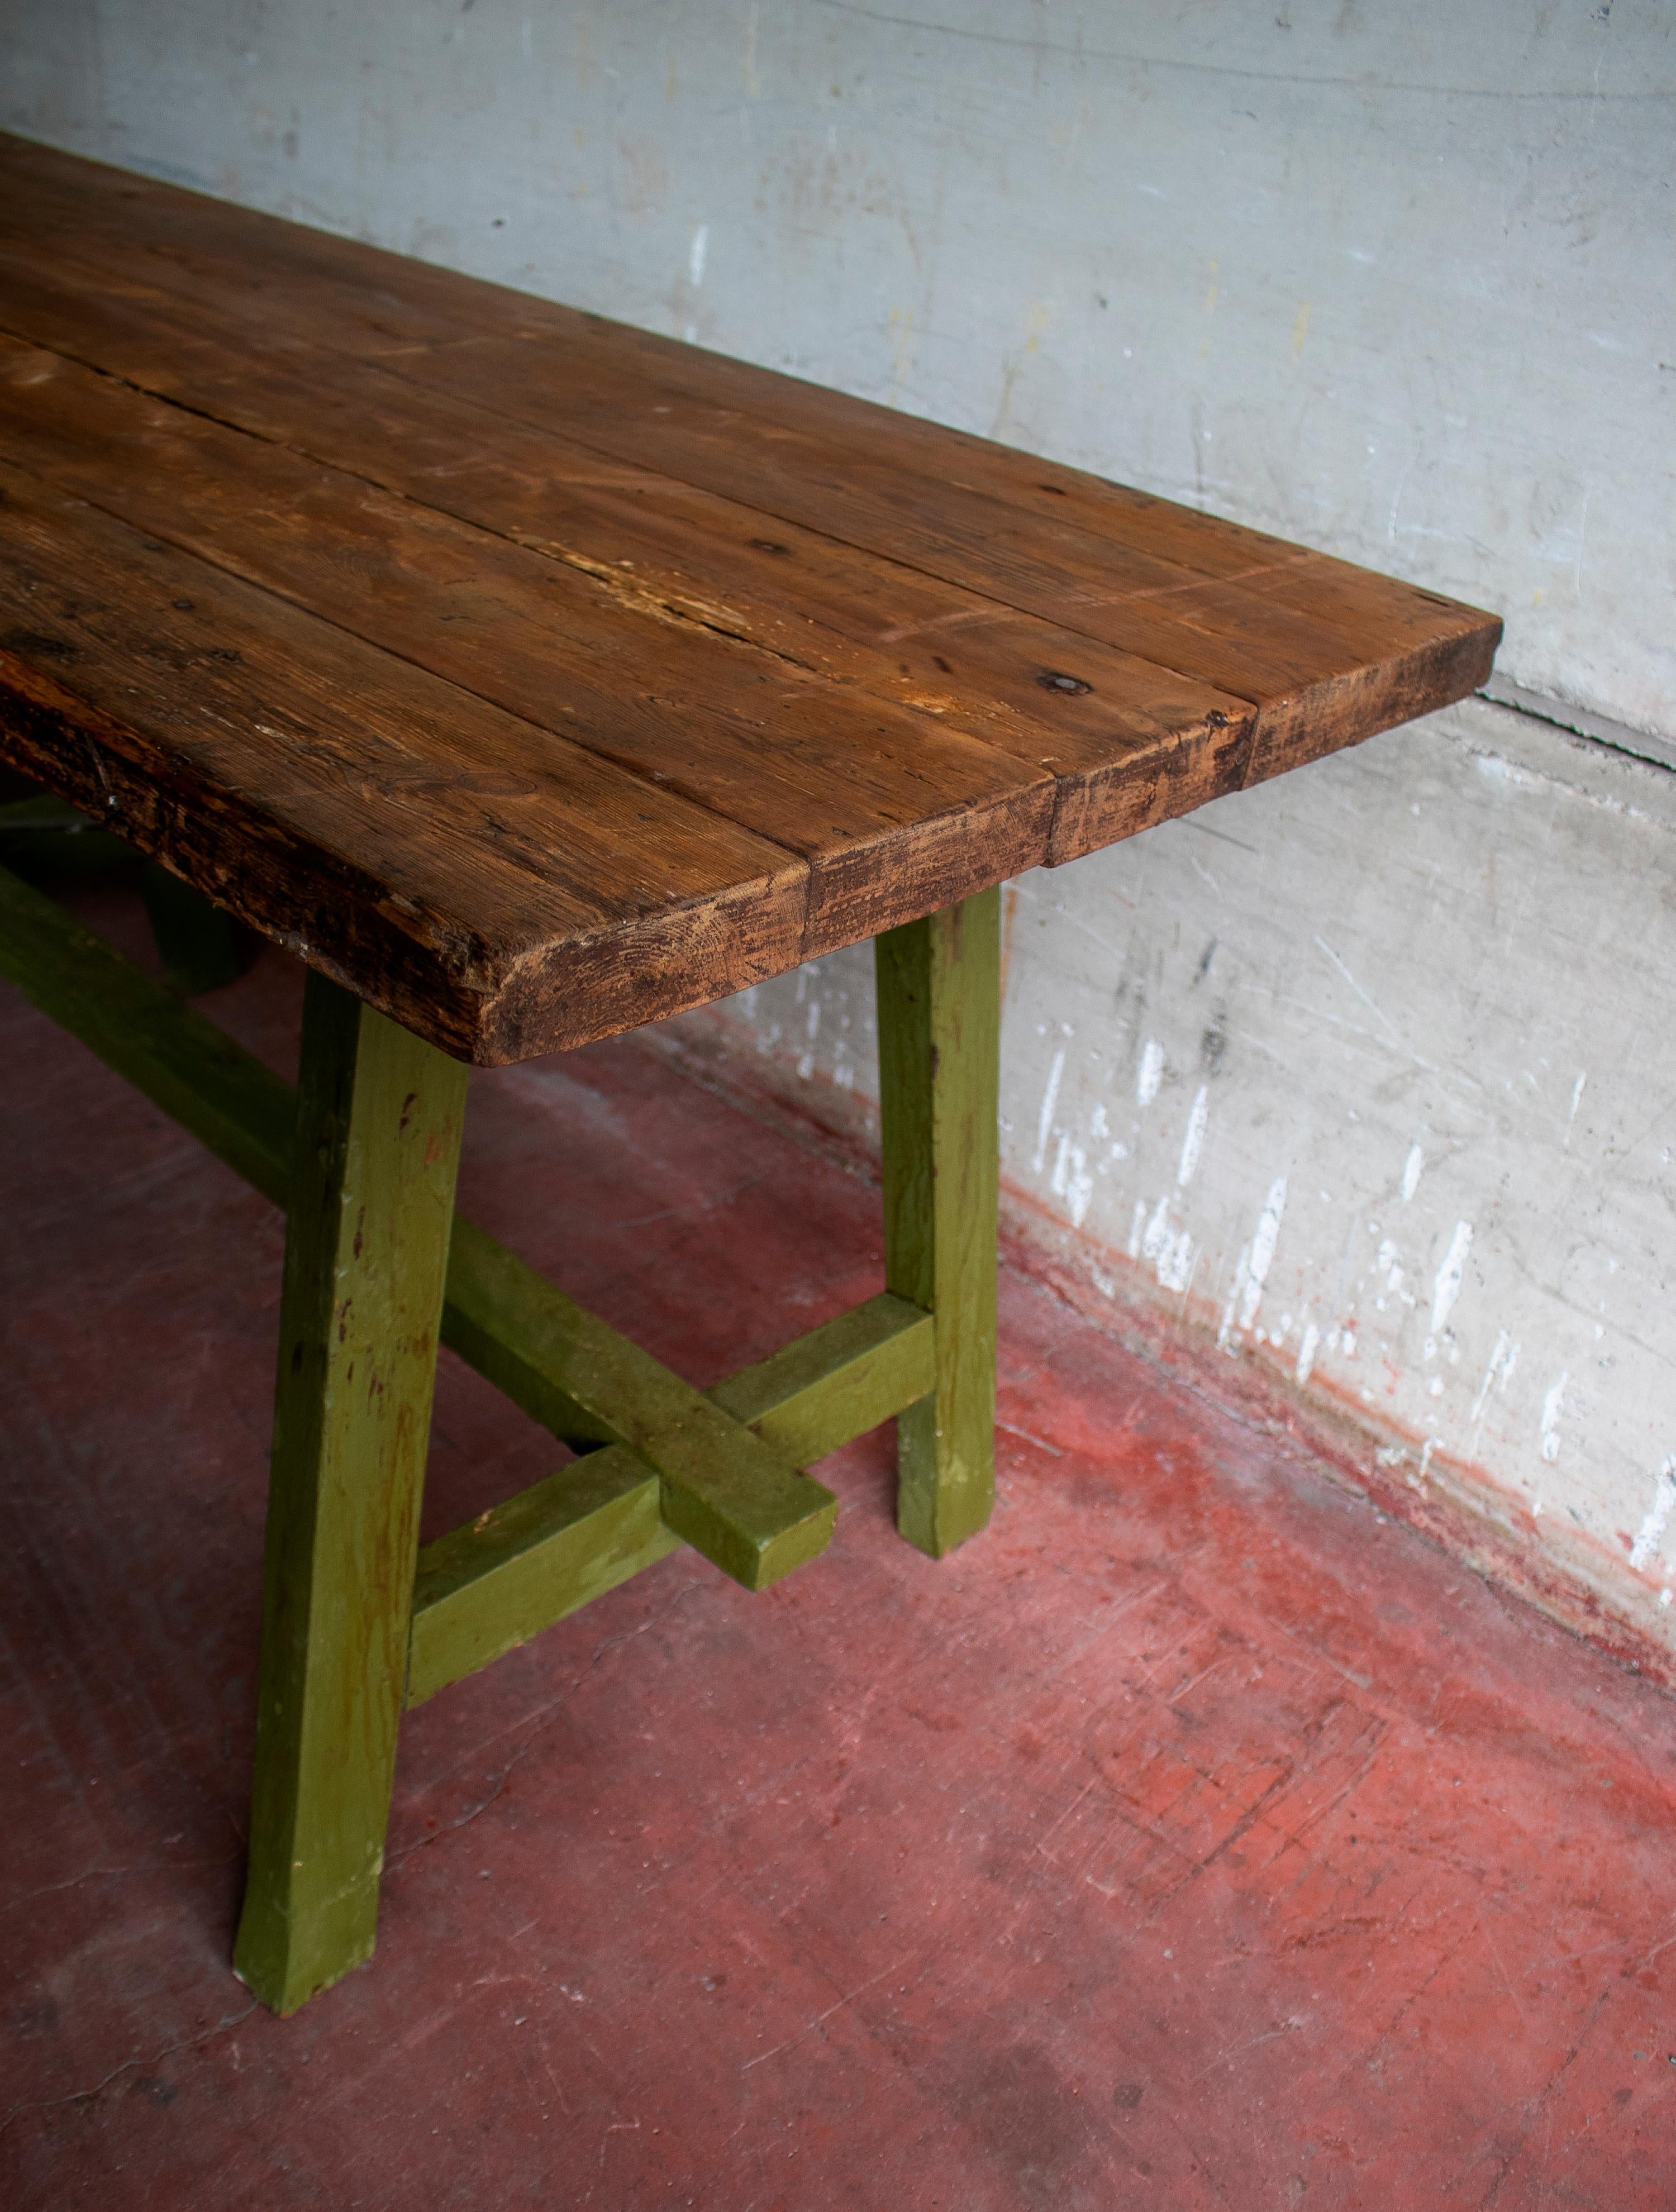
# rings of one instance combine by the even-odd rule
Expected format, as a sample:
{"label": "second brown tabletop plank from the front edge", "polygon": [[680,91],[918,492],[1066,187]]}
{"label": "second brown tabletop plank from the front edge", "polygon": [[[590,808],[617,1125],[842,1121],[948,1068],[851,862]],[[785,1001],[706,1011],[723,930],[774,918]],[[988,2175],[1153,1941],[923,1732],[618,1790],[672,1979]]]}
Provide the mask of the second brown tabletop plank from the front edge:
{"label": "second brown tabletop plank from the front edge", "polygon": [[[997,867],[1046,849],[1041,763],[743,639],[652,630],[570,564],[53,356],[11,369],[13,462],[798,854],[811,949],[869,933],[889,905],[882,845],[926,887],[982,867],[986,847]],[[248,712],[268,710],[252,686]]]}

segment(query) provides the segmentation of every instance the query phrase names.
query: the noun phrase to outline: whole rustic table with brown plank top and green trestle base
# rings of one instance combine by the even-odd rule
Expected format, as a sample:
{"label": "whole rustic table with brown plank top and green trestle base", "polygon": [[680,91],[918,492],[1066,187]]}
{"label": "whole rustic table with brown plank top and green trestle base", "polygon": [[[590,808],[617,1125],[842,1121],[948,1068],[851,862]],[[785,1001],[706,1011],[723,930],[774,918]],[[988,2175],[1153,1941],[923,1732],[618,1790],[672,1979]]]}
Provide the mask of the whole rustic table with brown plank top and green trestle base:
{"label": "whole rustic table with brown plank top and green trestle base", "polygon": [[[997,885],[1484,681],[1475,608],[0,139],[0,750],[310,967],[292,1093],[15,878],[0,964],[287,1208],[237,1971],[371,1951],[402,1705],[685,1542],[993,1482]],[[1369,825],[1378,834],[1378,825]],[[188,896],[181,891],[181,896]],[[878,940],[887,1290],[708,1394],[453,1214],[495,1066]],[[416,1551],[438,1336],[579,1451]]]}

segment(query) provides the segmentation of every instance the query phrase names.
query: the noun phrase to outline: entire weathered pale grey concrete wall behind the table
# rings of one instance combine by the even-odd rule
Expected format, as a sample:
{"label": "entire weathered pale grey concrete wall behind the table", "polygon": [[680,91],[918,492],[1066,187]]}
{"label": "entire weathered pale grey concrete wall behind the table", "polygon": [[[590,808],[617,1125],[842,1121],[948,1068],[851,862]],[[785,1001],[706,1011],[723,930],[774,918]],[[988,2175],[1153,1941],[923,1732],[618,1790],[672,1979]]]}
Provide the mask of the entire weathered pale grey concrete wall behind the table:
{"label": "entire weathered pale grey concrete wall behind the table", "polygon": [[[1508,697],[1676,757],[1672,9],[0,20],[11,128],[1479,599]],[[1017,885],[1004,1104],[1094,1301],[1672,1655],[1674,907],[1665,770],[1470,706]],[[869,1004],[683,1037],[853,1121]]]}

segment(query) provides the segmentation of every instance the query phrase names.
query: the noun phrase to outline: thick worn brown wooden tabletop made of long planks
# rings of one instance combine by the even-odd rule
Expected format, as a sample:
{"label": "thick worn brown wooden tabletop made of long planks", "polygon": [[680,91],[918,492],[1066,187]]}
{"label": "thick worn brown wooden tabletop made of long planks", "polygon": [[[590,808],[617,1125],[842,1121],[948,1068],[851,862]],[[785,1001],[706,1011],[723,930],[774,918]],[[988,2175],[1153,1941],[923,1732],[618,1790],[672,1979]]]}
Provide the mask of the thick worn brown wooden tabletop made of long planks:
{"label": "thick worn brown wooden tabletop made of long planks", "polygon": [[1075,860],[1462,697],[1497,637],[0,137],[0,752],[462,1057]]}

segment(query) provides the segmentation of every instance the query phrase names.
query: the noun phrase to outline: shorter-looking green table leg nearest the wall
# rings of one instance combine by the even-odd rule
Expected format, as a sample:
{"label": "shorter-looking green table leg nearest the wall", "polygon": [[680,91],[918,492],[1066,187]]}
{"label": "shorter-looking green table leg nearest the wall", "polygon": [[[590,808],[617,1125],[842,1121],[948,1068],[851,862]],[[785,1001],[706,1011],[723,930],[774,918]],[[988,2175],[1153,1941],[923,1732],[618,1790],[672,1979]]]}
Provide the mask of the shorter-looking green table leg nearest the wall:
{"label": "shorter-looking green table leg nearest the wall", "polygon": [[895,1422],[895,1524],[933,1559],[995,1498],[999,916],[980,891],[876,940],[884,1283],[937,1332],[937,1387]]}

